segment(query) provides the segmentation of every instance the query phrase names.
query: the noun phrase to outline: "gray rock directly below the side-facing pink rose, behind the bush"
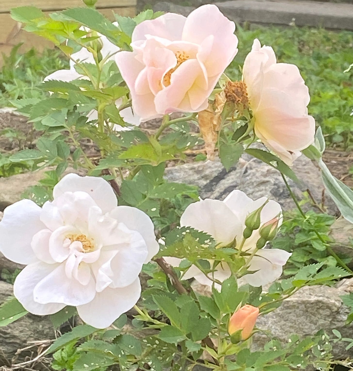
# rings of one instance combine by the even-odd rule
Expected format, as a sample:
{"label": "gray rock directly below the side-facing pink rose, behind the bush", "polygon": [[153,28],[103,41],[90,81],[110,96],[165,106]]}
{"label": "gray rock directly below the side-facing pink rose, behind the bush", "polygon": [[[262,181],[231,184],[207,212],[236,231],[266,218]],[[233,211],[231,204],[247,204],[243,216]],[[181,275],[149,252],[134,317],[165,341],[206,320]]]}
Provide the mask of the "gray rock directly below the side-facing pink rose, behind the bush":
{"label": "gray rock directly below the side-facing pink rose, behind the bush", "polygon": [[[312,161],[302,155],[294,162],[293,170],[301,183],[296,184],[292,180],[288,180],[288,183],[297,198],[302,198],[302,192],[309,189],[312,196],[320,201],[324,185],[320,171]],[[249,155],[244,155],[229,171],[219,160],[205,161],[167,168],[165,177],[168,181],[197,185],[202,198],[223,200],[231,191],[239,189],[254,200],[265,196],[278,201],[284,210],[295,208],[281,174]],[[330,213],[337,213],[336,205],[328,197],[326,206]]]}

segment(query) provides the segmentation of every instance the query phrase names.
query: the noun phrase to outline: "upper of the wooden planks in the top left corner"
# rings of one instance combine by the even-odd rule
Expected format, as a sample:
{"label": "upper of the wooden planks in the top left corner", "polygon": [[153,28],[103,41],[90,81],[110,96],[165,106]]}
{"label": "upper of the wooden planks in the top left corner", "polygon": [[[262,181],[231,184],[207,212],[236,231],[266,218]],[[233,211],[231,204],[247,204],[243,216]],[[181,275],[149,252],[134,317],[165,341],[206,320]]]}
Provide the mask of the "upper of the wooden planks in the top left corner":
{"label": "upper of the wooden planks in the top left corner", "polygon": [[[98,0],[97,8],[117,8],[136,6],[137,0]],[[10,12],[16,6],[36,6],[42,10],[62,10],[84,6],[82,0],[22,0],[20,4],[13,0],[0,0],[0,13]]]}

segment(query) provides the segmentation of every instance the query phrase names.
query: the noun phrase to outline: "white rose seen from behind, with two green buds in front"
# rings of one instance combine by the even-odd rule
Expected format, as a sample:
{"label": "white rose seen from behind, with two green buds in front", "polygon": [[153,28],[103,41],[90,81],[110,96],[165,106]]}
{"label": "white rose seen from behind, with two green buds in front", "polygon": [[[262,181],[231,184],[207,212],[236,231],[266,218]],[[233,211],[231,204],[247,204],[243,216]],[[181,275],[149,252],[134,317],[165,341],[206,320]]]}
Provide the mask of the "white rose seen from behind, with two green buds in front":
{"label": "white rose seen from behind, with two green buds in front", "polygon": [[[244,192],[234,190],[224,201],[205,199],[190,204],[181,216],[180,225],[210,234],[219,247],[226,246],[236,239],[236,247],[239,248],[247,215],[259,209],[266,201],[266,197],[253,201]],[[278,202],[269,200],[261,211],[260,226],[276,217],[279,217],[278,226],[280,226],[282,223],[281,206]],[[254,251],[259,238],[259,230],[253,231],[252,236],[244,243],[242,251]],[[290,256],[290,253],[281,249],[261,249],[252,258],[248,269],[256,272],[243,276],[243,279],[256,287],[274,282],[281,276],[282,267]],[[181,262],[181,259],[175,257],[165,257],[165,260],[172,266],[179,266]],[[209,273],[209,277],[220,282],[229,278],[230,275],[229,266],[223,262],[216,267],[215,272]],[[183,276],[183,279],[189,278],[195,278],[203,285],[213,285],[213,281],[194,265]],[[216,284],[216,288],[219,288],[219,285]]]}

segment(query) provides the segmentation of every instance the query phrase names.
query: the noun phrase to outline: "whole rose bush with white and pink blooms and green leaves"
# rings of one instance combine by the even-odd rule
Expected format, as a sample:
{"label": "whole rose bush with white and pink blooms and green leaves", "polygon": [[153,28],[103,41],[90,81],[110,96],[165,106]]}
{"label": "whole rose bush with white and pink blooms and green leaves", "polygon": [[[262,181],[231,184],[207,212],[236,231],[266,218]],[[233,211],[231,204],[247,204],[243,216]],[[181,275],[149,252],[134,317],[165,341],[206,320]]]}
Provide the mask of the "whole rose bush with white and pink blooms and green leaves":
{"label": "whole rose bush with white and pink blooms and green leaves", "polygon": [[[314,138],[310,97],[297,67],[277,63],[272,48],[255,40],[243,81],[230,81],[224,70],[238,39],[234,23],[215,5],[188,17],[116,14],[118,23],[111,23],[92,8],[94,1],[86,3],[89,8],[49,16],[35,7],[12,11],[72,63],[45,79],[46,99],[16,102],[42,136],[36,148],[9,161],[28,161],[32,170],[51,167],[27,193],[32,200],[7,207],[0,222],[0,251],[26,265],[15,297],[0,307],[0,326],[29,311],[51,315],[56,327],[78,314],[99,330],[79,325],[13,368],[54,353],[52,368],[70,371],[116,365],[328,371],[331,340],[322,331],[304,340],[291,336],[286,344],[269,336],[256,352],[251,344],[258,316],[302,286],[332,286],[349,276],[345,261],[332,252],[329,266],[327,259],[279,281],[291,257],[268,243],[282,224],[279,203],[252,200],[231,184],[224,201],[202,200],[197,187],[164,177],[166,164],[200,160],[204,152],[219,156],[226,171],[243,153],[255,157],[281,172],[310,238],[320,241],[320,252],[332,251],[291,191],[287,179],[298,179],[289,165],[301,151],[317,161],[328,193],[350,221],[353,192],[322,161],[324,137],[319,128]],[[162,116],[140,127],[136,122]],[[114,125],[126,122],[133,127],[116,132]],[[64,176],[69,166],[86,176]],[[194,279],[207,289],[198,290]]]}

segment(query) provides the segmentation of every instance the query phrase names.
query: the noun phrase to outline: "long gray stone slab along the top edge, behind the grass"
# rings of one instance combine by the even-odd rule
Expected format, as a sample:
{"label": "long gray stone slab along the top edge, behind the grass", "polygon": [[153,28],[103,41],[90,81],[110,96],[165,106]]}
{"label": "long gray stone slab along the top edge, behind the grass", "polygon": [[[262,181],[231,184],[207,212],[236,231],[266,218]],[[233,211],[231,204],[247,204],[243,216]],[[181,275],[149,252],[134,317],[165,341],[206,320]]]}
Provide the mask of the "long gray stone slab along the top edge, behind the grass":
{"label": "long gray stone slab along the top edge, behind the grass", "polygon": [[[234,22],[253,22],[353,30],[353,4],[292,0],[232,0],[216,3]],[[153,9],[187,15],[192,7],[167,2]]]}

